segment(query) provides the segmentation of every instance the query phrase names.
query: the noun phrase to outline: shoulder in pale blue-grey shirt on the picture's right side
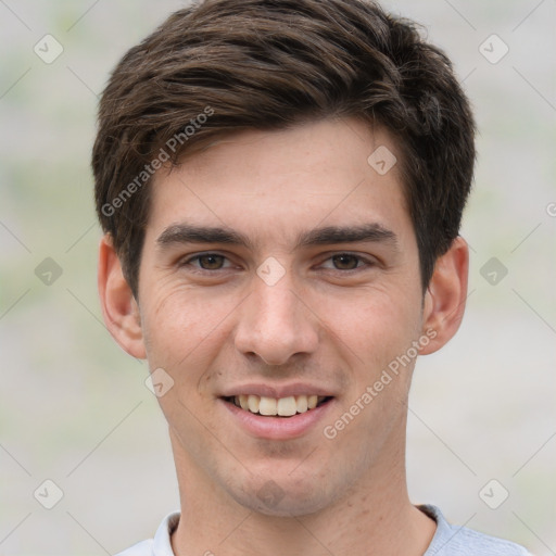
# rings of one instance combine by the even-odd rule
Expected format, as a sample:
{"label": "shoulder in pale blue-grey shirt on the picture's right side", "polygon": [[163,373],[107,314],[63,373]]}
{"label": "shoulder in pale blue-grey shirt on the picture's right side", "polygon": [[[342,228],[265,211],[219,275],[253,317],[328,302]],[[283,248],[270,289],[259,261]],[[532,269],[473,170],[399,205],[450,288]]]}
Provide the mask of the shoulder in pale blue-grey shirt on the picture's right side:
{"label": "shoulder in pale blue-grey shirt on the picture's right side", "polygon": [[437,521],[437,532],[425,556],[530,556],[511,541],[450,525],[435,506],[419,506],[419,509]]}

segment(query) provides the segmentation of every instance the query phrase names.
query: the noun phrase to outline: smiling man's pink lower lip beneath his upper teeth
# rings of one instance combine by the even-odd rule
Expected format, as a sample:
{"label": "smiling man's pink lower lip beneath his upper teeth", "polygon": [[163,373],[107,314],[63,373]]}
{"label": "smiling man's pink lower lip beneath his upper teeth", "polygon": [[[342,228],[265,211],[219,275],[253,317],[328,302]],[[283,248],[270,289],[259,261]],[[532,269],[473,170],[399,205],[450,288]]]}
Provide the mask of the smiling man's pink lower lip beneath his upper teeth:
{"label": "smiling man's pink lower lip beneath his upper teeth", "polygon": [[303,434],[313,429],[329,412],[334,400],[331,399],[314,409],[293,415],[292,417],[265,417],[241,409],[237,405],[225,402],[222,399],[218,400],[218,403],[224,404],[240,427],[249,434],[260,439],[290,440],[303,437]]}

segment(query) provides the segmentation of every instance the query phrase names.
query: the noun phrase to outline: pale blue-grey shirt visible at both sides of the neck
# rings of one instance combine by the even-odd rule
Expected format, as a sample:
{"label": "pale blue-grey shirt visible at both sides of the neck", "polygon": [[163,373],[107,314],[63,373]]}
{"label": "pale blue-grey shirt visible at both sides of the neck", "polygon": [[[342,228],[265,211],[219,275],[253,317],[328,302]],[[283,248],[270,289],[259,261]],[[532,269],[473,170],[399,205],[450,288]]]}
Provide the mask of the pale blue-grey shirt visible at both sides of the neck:
{"label": "pale blue-grey shirt visible at both sides of the neck", "polygon": [[[424,505],[419,509],[437,521],[437,532],[424,556],[531,556],[522,546],[510,541],[466,527],[451,526],[435,506]],[[169,514],[160,525],[154,539],[142,541],[116,556],[175,556],[169,539],[178,521],[178,511]]]}

